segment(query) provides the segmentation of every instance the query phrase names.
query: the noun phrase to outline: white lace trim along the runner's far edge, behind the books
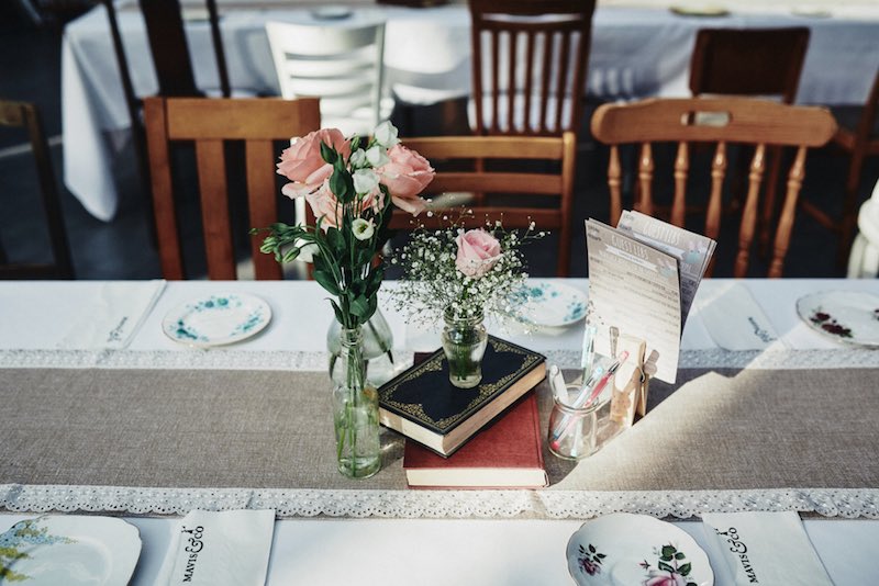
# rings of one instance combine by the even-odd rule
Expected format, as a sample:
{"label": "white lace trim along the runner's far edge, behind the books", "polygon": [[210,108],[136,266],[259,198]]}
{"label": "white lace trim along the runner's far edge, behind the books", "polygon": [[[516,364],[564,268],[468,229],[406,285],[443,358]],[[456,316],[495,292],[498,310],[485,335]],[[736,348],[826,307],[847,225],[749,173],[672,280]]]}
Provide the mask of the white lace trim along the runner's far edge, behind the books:
{"label": "white lace trim along the runner's far edge, behind the books", "polygon": [[[547,364],[577,368],[579,350],[544,352]],[[394,356],[412,363],[412,352]],[[107,369],[221,369],[324,371],[329,353],[293,350],[0,350],[0,368],[107,368]],[[863,348],[742,351],[682,350],[679,368],[749,369],[879,368],[879,351]]]}

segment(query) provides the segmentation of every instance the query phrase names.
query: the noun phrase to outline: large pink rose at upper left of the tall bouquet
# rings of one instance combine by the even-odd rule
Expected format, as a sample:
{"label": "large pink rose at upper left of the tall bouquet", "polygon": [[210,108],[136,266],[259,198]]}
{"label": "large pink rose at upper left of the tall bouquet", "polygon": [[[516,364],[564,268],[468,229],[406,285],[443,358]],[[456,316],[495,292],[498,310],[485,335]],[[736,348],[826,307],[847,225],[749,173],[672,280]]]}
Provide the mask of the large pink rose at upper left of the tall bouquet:
{"label": "large pink rose at upper left of the tall bouquet", "polygon": [[278,162],[278,174],[292,181],[283,185],[281,193],[290,199],[304,195],[318,189],[333,174],[333,166],[321,157],[321,143],[334,147],[344,157],[351,156],[351,144],[337,128],[322,128],[294,138],[290,148],[281,153],[281,160]]}

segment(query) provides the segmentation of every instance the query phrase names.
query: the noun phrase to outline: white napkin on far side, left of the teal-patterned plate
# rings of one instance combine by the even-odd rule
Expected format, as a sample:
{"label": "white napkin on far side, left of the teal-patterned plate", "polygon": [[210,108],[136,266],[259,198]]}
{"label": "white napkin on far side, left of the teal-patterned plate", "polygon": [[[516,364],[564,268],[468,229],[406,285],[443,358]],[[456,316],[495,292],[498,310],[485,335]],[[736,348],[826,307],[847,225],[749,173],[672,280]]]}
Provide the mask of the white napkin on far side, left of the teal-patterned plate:
{"label": "white napkin on far side, left of the teal-patterned plate", "polygon": [[101,286],[58,342],[65,350],[125,348],[153,308],[165,281],[118,281]]}

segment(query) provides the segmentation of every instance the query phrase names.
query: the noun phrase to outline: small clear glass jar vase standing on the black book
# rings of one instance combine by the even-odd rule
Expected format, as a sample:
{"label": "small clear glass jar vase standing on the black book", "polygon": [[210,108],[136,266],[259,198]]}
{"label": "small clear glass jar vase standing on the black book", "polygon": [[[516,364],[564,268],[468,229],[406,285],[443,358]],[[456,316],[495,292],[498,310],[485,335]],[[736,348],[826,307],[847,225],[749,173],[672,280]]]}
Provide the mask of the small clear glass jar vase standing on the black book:
{"label": "small clear glass jar vase standing on the black book", "polygon": [[446,308],[443,328],[443,351],[448,362],[448,380],[458,388],[472,388],[482,380],[482,357],[488,331],[480,309],[470,317],[460,317]]}

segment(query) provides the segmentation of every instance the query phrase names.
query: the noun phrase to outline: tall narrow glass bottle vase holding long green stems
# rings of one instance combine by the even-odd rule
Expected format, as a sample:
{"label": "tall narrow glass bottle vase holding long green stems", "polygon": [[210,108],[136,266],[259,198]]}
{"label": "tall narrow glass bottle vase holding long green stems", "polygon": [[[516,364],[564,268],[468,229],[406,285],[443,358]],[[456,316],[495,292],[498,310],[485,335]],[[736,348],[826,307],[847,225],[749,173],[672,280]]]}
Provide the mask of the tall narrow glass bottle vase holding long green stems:
{"label": "tall narrow glass bottle vase holding long green stems", "polygon": [[340,376],[333,381],[333,422],[338,471],[368,478],[381,467],[378,393],[366,382],[360,328],[340,330]]}

